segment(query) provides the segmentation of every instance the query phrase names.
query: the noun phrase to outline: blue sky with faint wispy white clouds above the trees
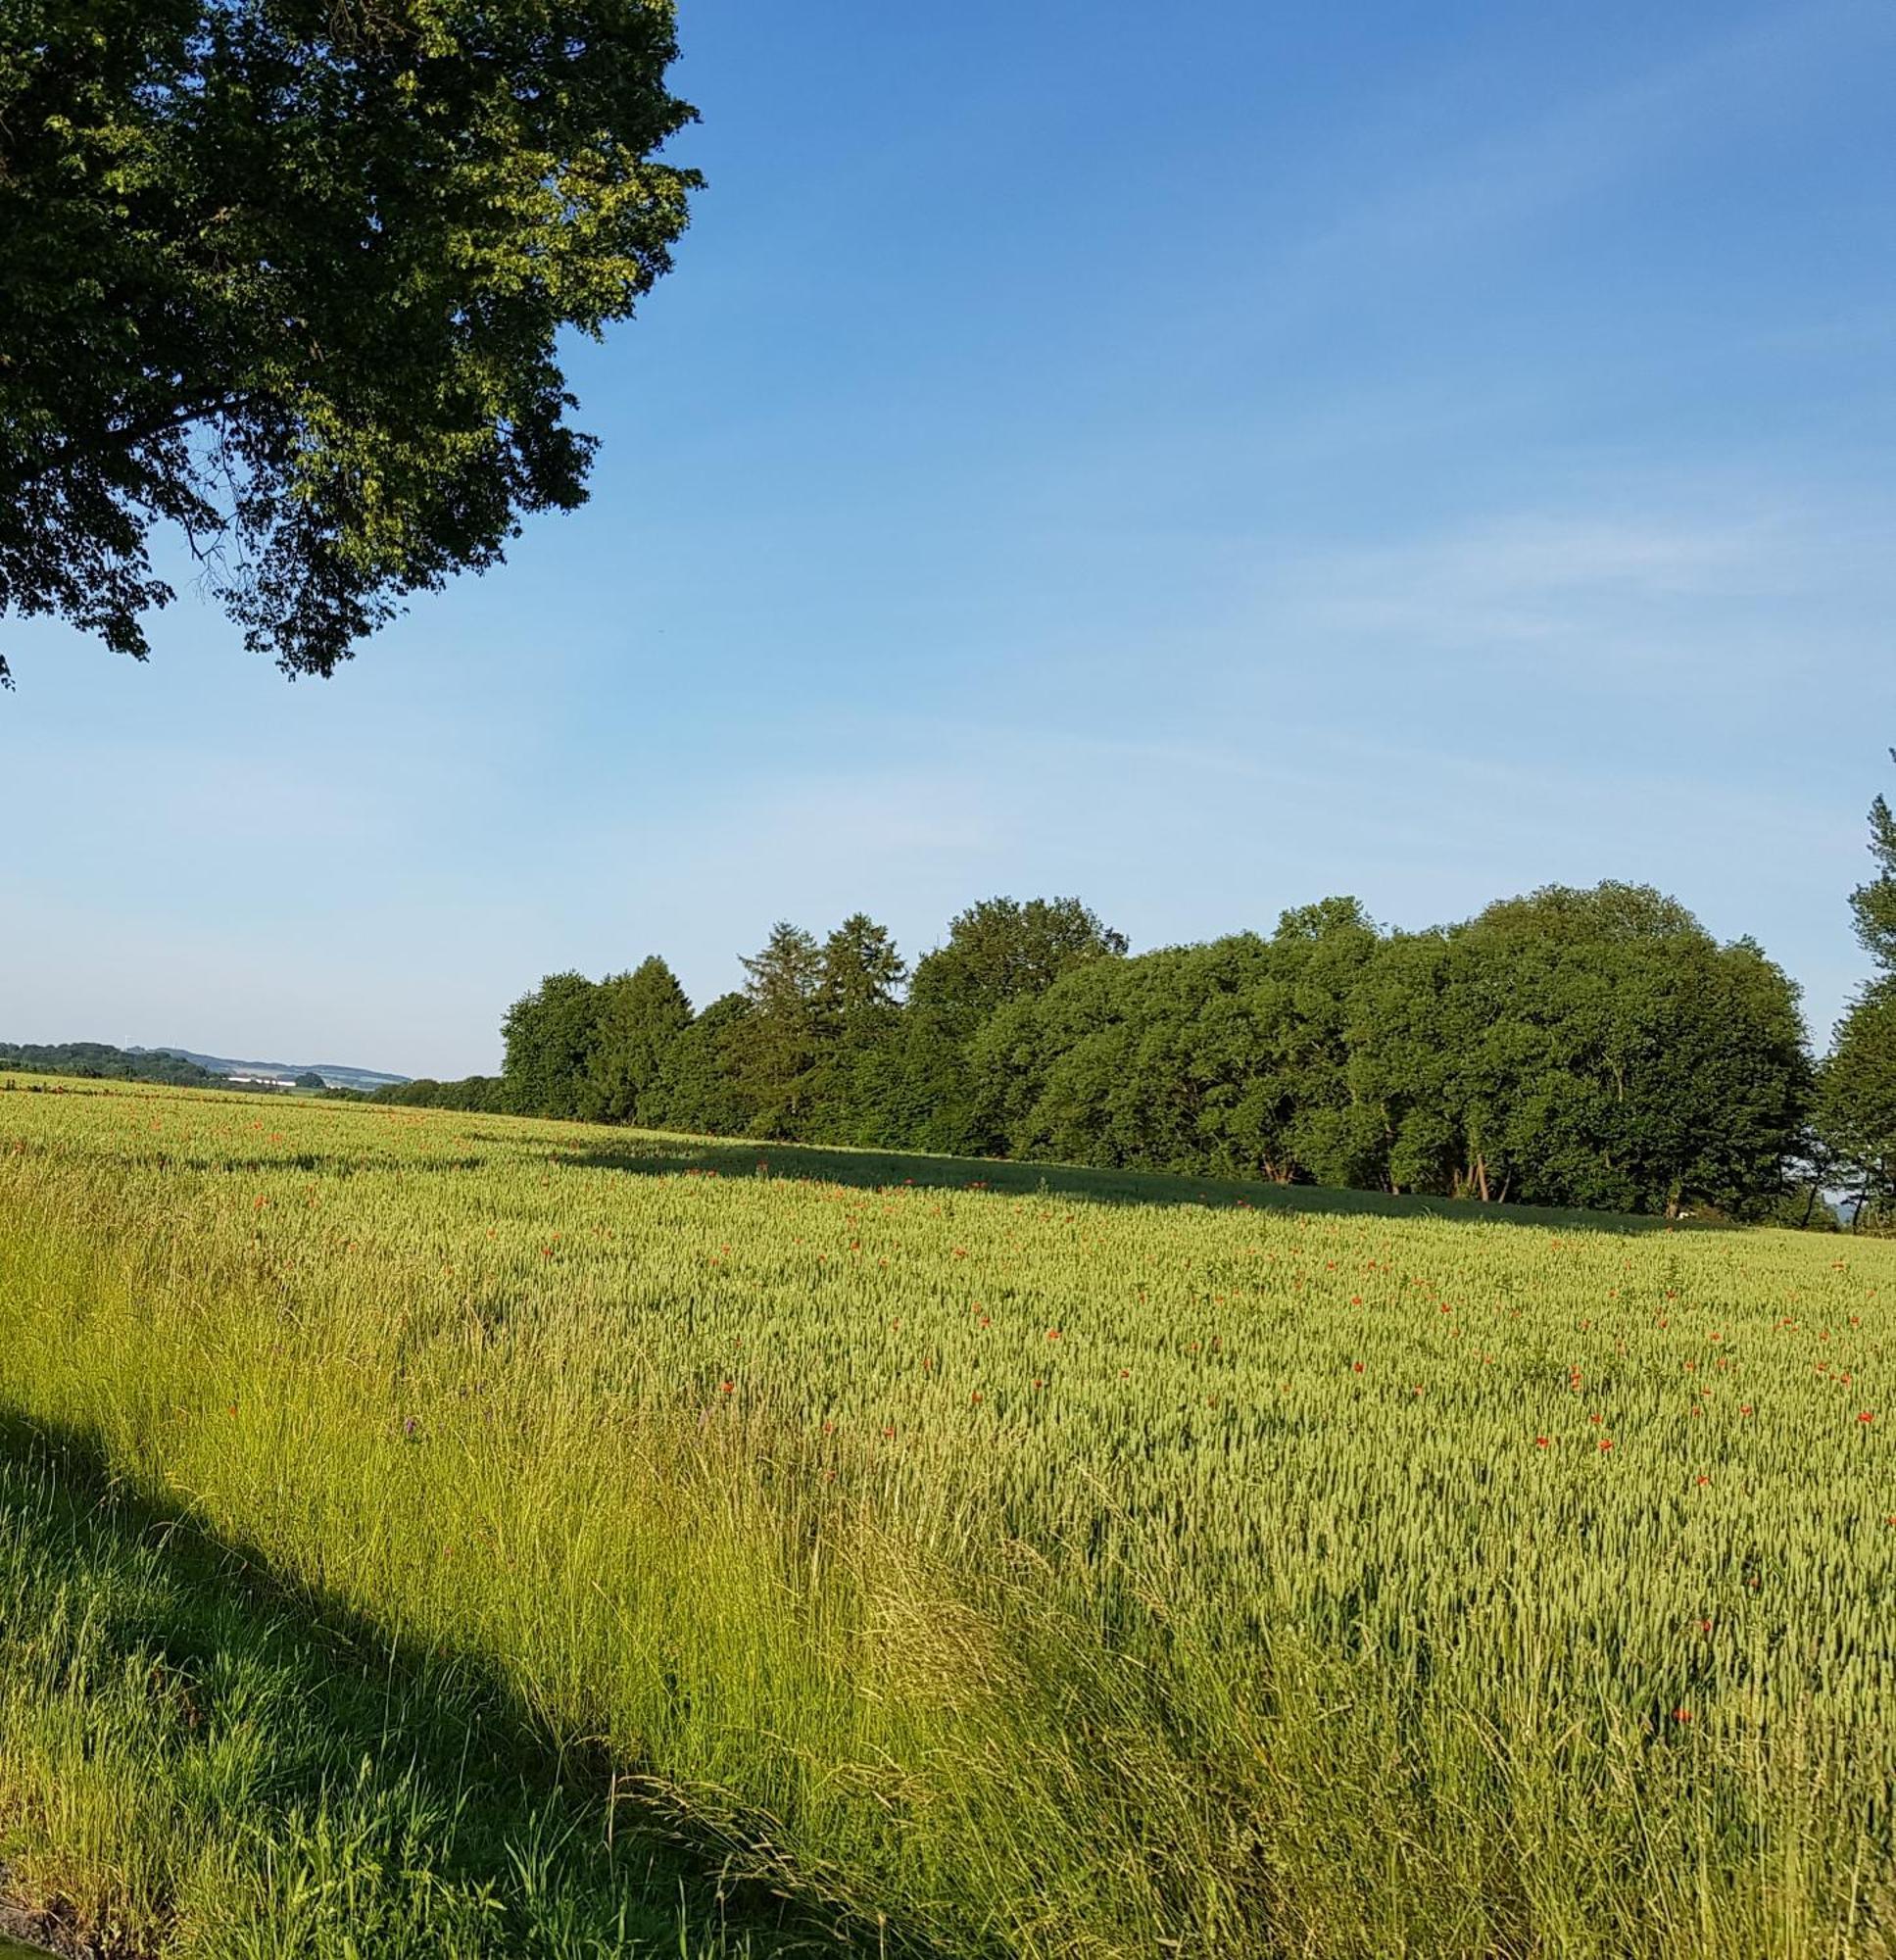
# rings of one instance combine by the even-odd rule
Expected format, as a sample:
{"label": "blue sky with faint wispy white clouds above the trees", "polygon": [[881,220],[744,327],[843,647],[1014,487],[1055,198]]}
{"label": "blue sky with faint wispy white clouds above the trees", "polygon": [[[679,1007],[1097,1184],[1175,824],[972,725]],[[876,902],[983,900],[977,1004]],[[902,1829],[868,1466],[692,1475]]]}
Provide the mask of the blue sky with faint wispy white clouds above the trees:
{"label": "blue sky with faint wispy white clouds above the trees", "polygon": [[0,1039],[411,1074],[552,968],[1663,886],[1827,1029],[1896,786],[1896,10],[684,0],[593,500],[284,684],[0,627]]}

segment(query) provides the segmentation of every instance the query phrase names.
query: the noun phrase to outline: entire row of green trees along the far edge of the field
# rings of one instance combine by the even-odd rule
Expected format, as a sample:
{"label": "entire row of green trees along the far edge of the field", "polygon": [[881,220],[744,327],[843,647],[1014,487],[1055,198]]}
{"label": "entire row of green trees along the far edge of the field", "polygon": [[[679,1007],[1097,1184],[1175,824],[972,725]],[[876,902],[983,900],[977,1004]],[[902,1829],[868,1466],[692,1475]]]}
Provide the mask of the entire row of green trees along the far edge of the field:
{"label": "entire row of green trees along the far edge of the field", "polygon": [[913,974],[862,913],[744,972],[697,1013],[656,956],[550,974],[499,1076],[376,1100],[1647,1213],[1761,1215],[1812,1151],[1798,990],[1643,886],[1420,933],[1332,898],[1140,956],[995,898]]}

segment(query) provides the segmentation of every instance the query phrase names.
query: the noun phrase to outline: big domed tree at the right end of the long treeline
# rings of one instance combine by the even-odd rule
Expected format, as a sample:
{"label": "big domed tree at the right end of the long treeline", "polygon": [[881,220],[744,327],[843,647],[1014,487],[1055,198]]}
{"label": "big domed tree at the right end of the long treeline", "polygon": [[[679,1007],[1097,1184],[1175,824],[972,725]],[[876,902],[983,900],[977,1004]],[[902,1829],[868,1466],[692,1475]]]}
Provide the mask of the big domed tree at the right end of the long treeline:
{"label": "big domed tree at the right end of the long treeline", "polygon": [[1784,974],[1624,884],[1393,941],[1350,1074],[1391,1188],[1618,1211],[1780,1188],[1810,1094]]}

